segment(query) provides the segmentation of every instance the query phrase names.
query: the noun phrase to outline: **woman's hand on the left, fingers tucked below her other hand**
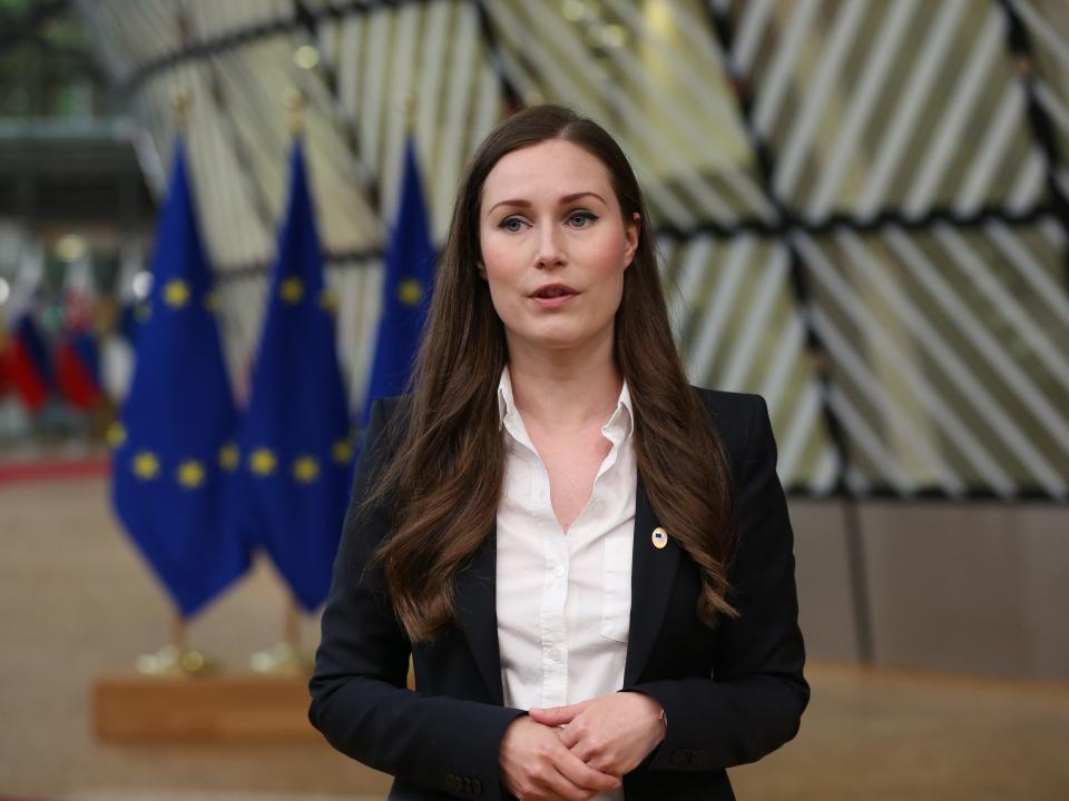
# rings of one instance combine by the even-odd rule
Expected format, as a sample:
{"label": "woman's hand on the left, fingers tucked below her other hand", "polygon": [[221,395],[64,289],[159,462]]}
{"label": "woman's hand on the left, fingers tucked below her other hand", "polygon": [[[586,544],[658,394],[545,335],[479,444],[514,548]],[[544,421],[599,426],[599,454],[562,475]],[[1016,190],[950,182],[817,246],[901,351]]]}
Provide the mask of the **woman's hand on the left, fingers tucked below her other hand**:
{"label": "woman's hand on the left, fingers tucked below her other hand", "polygon": [[587,801],[616,790],[620,778],[601,773],[565,748],[556,729],[517,718],[498,752],[504,789],[520,801]]}

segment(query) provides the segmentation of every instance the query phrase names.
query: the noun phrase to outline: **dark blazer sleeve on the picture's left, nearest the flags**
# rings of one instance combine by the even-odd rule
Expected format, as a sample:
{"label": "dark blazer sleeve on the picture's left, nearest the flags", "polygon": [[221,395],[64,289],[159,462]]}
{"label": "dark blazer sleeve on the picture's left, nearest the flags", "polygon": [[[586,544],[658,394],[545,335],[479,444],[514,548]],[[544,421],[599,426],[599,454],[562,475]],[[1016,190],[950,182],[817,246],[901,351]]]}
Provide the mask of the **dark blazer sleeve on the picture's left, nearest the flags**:
{"label": "dark blazer sleeve on the picture's left, nearest the flags", "polygon": [[408,690],[411,645],[381,572],[367,570],[390,531],[386,510],[361,508],[389,451],[385,417],[376,400],[323,611],[308,718],[334,748],[371,768],[426,789],[498,799],[498,749],[521,712]]}

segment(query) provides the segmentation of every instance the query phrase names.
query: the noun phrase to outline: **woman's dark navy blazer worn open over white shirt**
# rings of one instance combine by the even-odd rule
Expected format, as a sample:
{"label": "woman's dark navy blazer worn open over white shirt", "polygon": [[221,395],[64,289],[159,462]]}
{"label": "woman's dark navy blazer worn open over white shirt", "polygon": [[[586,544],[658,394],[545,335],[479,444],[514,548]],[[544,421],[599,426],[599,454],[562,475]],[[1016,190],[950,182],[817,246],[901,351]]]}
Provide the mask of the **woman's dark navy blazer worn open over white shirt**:
{"label": "woman's dark navy blazer worn open over white shirt", "polygon": [[[725,769],[791,740],[810,696],[793,534],[767,407],[757,395],[696,392],[732,464],[739,545],[729,575],[741,614],[715,629],[698,619],[698,568],[670,536],[667,547],[654,547],[659,523],[639,476],[622,689],[660,702],[668,729],[624,777],[628,801],[734,799]],[[393,774],[392,800],[503,799],[498,749],[523,711],[502,702],[496,537],[457,578],[460,625],[430,643],[410,644],[381,575],[364,571],[390,531],[390,514],[359,506],[393,449],[385,432],[398,406],[393,398],[372,408],[323,612],[310,719],[334,748]],[[405,686],[410,654],[414,692]]]}

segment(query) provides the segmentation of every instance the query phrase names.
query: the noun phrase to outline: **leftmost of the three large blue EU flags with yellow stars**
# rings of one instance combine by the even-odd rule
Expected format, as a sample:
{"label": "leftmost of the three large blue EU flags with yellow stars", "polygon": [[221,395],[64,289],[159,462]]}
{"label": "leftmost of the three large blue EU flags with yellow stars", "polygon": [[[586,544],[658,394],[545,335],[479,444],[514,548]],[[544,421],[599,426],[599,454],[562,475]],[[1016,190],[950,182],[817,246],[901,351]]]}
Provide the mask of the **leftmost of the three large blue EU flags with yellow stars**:
{"label": "leftmost of the three large blue EU flags with yellow stars", "polygon": [[237,417],[217,307],[179,142],[130,390],[108,437],[116,512],[185,616],[248,567],[224,516]]}

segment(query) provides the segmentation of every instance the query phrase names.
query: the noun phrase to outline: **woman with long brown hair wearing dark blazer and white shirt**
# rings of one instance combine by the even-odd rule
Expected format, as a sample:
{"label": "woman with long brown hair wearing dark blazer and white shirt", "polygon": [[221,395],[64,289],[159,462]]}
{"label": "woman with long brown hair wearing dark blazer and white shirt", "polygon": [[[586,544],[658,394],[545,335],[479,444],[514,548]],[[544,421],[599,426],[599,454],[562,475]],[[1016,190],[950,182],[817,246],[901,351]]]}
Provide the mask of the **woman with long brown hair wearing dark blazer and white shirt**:
{"label": "woman with long brown hair wearing dark blazer and white shirt", "polygon": [[312,723],[391,799],[734,798],[808,700],[775,461],[759,396],[688,386],[616,142],[512,116],[372,411]]}

